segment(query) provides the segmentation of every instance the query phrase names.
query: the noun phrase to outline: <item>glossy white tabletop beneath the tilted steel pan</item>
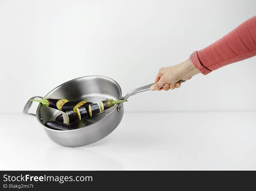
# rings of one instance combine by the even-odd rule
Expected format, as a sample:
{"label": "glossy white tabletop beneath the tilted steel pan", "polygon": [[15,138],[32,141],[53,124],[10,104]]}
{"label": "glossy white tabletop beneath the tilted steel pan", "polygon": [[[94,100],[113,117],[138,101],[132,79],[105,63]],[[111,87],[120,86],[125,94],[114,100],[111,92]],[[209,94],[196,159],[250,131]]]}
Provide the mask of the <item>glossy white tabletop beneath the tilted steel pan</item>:
{"label": "glossy white tabletop beneath the tilted steel pan", "polygon": [[0,119],[0,170],[256,170],[256,112],[125,113],[109,136],[73,148],[33,117]]}

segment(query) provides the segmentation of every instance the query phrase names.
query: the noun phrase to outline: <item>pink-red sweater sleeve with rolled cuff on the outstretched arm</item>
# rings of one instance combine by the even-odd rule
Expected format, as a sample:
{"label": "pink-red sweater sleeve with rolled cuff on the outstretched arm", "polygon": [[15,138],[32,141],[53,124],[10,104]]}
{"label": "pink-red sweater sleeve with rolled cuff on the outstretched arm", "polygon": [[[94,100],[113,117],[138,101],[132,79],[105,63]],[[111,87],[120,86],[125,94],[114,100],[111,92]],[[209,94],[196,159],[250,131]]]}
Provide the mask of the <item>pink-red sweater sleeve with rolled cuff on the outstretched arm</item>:
{"label": "pink-red sweater sleeve with rolled cuff on the outstretched arm", "polygon": [[190,59],[202,74],[256,55],[256,16],[210,46],[195,51]]}

